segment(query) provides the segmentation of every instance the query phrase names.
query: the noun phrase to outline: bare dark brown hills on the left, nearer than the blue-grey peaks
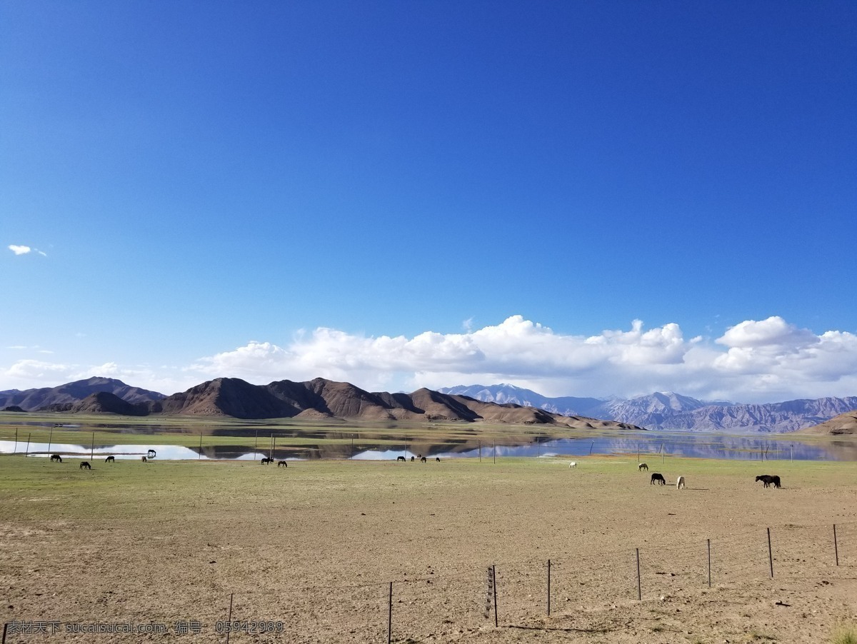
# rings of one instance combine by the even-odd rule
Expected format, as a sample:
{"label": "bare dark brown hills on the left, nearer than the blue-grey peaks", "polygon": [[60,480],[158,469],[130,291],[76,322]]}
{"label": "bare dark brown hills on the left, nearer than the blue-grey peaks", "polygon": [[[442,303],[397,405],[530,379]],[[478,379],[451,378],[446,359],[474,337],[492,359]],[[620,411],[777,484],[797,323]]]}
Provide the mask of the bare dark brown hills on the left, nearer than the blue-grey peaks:
{"label": "bare dark brown hills on the left, nearer than the blue-grey peaks", "polygon": [[[83,397],[70,400],[69,391]],[[251,385],[237,378],[218,378],[171,396],[141,391],[145,390],[128,387],[119,380],[88,379],[50,390],[0,391],[0,405],[5,410],[18,408],[25,412],[129,416],[180,414],[241,419],[481,420],[514,425],[642,429],[610,420],[551,414],[540,408],[514,403],[485,403],[428,389],[418,389],[411,394],[370,393],[350,383],[323,378],[307,382],[279,380],[268,385]],[[57,402],[51,402],[51,396]]]}

